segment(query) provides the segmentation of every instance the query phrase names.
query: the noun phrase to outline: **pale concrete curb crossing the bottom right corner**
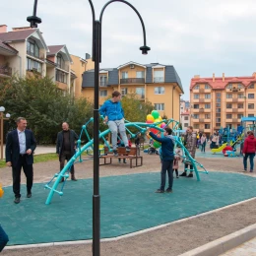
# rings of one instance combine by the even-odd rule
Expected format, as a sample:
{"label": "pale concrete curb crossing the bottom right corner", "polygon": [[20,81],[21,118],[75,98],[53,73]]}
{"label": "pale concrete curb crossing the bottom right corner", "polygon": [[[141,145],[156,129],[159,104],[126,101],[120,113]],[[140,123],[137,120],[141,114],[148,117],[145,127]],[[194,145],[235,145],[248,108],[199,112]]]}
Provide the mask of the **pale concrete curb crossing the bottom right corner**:
{"label": "pale concrete curb crossing the bottom right corner", "polygon": [[217,256],[256,237],[256,224],[225,235],[179,256]]}

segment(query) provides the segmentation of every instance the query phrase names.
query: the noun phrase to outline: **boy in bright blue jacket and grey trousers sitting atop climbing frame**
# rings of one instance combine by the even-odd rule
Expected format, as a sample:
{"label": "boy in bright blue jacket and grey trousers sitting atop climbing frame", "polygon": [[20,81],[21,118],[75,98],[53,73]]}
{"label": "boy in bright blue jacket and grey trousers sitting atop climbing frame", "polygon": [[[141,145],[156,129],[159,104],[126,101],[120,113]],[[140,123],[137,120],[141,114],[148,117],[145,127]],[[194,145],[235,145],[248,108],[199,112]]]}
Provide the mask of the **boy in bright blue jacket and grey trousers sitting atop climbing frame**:
{"label": "boy in bright blue jacket and grey trousers sitting atop climbing frame", "polygon": [[125,133],[124,111],[120,102],[121,94],[117,91],[112,93],[112,98],[105,100],[99,109],[99,113],[104,116],[104,122],[108,124],[112,134],[112,146],[114,156],[117,154],[117,132],[119,130],[126,152],[130,152],[128,139]]}

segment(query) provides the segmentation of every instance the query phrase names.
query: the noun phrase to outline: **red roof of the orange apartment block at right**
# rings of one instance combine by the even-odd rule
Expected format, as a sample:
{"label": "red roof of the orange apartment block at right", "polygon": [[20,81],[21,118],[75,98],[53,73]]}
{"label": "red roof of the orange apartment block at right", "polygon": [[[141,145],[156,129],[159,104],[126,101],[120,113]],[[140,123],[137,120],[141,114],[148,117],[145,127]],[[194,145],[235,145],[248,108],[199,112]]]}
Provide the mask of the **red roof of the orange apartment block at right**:
{"label": "red roof of the orange apartment block at right", "polygon": [[214,90],[222,90],[227,84],[231,83],[240,83],[244,87],[248,87],[252,82],[256,82],[256,77],[225,77],[223,81],[223,77],[215,78],[215,82],[213,78],[192,78],[190,82],[190,90],[197,84],[208,84]]}

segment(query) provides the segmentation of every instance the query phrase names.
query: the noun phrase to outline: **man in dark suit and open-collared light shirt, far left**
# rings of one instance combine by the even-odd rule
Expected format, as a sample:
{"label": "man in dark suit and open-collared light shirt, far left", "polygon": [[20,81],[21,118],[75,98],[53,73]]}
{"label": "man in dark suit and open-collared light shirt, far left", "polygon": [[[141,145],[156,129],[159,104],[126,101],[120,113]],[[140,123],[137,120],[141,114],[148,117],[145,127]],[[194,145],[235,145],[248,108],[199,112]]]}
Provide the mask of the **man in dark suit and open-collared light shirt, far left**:
{"label": "man in dark suit and open-collared light shirt, far left", "polygon": [[27,177],[27,197],[32,197],[32,163],[33,151],[36,143],[32,131],[26,130],[27,120],[24,117],[17,119],[17,129],[7,135],[5,156],[6,165],[13,169],[13,191],[15,194],[14,202],[20,203],[21,198],[21,171],[22,167]]}

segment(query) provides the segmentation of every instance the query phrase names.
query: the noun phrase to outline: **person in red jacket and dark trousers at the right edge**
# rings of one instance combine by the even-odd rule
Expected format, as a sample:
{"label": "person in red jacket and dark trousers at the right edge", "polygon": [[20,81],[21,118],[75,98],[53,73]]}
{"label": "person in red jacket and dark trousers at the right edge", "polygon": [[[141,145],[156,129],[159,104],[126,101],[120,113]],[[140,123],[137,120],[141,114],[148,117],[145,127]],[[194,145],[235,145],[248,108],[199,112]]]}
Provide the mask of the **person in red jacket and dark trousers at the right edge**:
{"label": "person in red jacket and dark trousers at the right edge", "polygon": [[256,152],[256,139],[254,138],[254,134],[252,131],[248,133],[247,138],[244,140],[243,144],[243,167],[244,170],[247,170],[247,159],[249,157],[250,160],[250,172],[253,172],[253,159],[255,157]]}

